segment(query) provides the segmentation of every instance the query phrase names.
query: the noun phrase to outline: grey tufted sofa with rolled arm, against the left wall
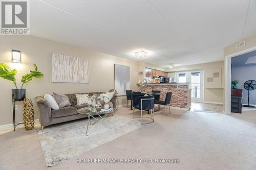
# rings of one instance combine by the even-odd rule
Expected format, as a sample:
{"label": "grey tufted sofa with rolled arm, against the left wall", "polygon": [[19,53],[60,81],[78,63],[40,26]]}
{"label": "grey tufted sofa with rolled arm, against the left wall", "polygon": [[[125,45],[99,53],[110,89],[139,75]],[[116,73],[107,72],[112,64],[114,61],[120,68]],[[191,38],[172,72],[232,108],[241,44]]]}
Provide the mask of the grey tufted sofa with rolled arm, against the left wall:
{"label": "grey tufted sofa with rolled arm, against the left wall", "polygon": [[[91,92],[88,93],[89,96],[93,94],[101,94],[103,92]],[[87,93],[79,93],[79,94],[87,94]],[[76,95],[74,94],[66,94],[69,98],[69,101],[71,103],[71,106],[63,107],[58,110],[52,110],[49,103],[44,99],[44,95],[36,96],[35,101],[38,106],[38,116],[39,116],[39,122],[42,127],[42,131],[44,130],[45,126],[68,122],[70,120],[85,118],[87,115],[78,114],[77,110],[81,109],[83,107],[87,107],[87,105],[77,105]],[[111,107],[114,107],[115,105],[115,99],[117,95],[114,94],[113,98],[111,99],[109,105]],[[103,106],[103,103],[102,103]]]}

